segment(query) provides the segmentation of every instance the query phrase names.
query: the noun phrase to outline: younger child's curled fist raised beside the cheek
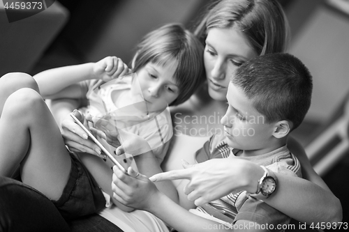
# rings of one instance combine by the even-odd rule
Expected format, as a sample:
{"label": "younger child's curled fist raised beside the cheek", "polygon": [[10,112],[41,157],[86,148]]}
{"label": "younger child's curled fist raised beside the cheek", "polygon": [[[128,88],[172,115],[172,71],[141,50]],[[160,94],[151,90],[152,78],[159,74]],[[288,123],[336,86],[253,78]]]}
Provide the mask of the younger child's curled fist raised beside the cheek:
{"label": "younger child's curled fist raised beside the cheek", "polygon": [[116,56],[107,56],[94,64],[94,76],[109,82],[117,77],[122,77],[131,72],[126,63]]}

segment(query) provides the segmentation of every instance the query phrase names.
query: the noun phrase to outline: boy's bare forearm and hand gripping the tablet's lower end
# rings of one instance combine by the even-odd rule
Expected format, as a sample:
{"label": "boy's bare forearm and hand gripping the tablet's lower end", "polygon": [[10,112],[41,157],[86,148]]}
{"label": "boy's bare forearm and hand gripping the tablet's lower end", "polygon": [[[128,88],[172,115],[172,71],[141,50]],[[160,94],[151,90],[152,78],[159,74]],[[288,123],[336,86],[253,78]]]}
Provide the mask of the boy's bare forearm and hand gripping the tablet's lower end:
{"label": "boy's bare forearm and hand gripping the tablet's lower end", "polygon": [[254,222],[240,220],[233,228],[229,228],[228,224],[223,225],[195,215],[159,191],[147,176],[138,175],[132,170],[130,176],[127,176],[116,166],[113,171],[112,190],[118,201],[153,213],[177,231],[262,231],[258,230],[262,226]]}

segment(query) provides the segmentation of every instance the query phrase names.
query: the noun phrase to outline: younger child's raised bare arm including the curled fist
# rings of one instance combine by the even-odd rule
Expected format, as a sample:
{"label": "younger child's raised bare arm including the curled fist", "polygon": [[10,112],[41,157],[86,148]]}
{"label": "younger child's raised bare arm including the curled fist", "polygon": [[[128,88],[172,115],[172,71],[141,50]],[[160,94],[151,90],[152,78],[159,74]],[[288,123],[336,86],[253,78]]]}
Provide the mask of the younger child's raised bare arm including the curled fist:
{"label": "younger child's raised bare arm including the curled fist", "polygon": [[[108,82],[130,70],[121,59],[107,56],[97,63],[84,63],[45,70],[34,76],[43,98],[80,98],[81,91],[75,85],[87,79]],[[57,94],[59,97],[57,97]]]}

